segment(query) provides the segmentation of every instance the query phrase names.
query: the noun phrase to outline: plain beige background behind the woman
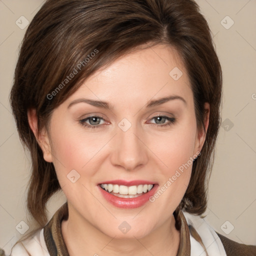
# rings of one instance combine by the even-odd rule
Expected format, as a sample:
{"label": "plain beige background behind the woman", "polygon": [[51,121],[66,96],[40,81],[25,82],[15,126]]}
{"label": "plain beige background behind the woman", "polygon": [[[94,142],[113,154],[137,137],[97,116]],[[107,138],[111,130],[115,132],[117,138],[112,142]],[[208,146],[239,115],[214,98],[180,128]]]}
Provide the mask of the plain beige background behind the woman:
{"label": "plain beige background behind the woman", "polygon": [[[28,231],[32,228],[24,206],[29,157],[23,152],[8,103],[19,44],[26,29],[20,29],[15,21],[22,15],[31,21],[42,2],[0,0],[0,247],[7,254],[20,237],[15,226],[23,220]],[[225,127],[218,135],[206,219],[230,239],[256,245],[256,0],[197,3],[214,34],[223,70]],[[227,15],[234,21],[229,29],[223,26],[231,24]],[[54,196],[48,204],[49,218],[64,200],[62,193]]]}

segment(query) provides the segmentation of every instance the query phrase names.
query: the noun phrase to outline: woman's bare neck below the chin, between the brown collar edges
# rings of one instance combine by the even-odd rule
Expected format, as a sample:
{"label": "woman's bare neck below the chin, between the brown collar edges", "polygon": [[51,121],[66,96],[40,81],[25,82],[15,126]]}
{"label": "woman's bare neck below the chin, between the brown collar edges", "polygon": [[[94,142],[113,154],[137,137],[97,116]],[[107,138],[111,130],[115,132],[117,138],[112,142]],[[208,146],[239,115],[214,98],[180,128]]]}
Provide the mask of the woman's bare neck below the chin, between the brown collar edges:
{"label": "woman's bare neck below the chin, between the brown collar edges", "polygon": [[[68,205],[69,206],[69,205]],[[144,237],[116,238],[101,232],[79,214],[68,208],[68,219],[62,220],[61,232],[70,256],[176,256],[180,233],[175,228],[175,218],[165,221]]]}

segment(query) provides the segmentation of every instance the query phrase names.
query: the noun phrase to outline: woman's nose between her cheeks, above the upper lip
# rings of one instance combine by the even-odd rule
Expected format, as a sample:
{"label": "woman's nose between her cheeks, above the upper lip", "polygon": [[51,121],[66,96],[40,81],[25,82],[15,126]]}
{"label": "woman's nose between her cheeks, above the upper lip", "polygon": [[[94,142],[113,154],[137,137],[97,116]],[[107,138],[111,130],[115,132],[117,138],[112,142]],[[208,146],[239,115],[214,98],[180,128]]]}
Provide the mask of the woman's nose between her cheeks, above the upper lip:
{"label": "woman's nose between her cheeks, above the upper lip", "polygon": [[[127,125],[127,123],[125,124]],[[121,126],[120,126],[121,127]],[[115,166],[121,166],[124,170],[132,171],[145,165],[148,161],[148,147],[145,134],[132,124],[126,131],[117,127],[117,134],[112,141],[111,162]]]}

